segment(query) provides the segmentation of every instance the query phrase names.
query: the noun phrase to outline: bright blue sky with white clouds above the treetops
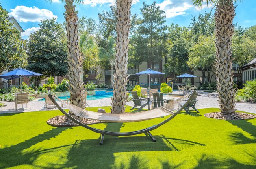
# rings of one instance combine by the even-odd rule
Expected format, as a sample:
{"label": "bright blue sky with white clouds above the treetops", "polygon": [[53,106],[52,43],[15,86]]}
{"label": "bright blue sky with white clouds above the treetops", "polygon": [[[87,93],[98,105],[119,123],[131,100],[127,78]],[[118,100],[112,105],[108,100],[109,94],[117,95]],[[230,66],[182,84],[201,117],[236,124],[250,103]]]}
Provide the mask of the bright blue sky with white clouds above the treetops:
{"label": "bright blue sky with white clouds above the treetops", "polygon": [[[198,16],[199,13],[209,12],[212,7],[203,6],[203,9],[194,7],[191,0],[155,0],[160,9],[165,11],[166,24],[178,24],[188,26],[191,16]],[[22,38],[28,38],[29,34],[38,30],[41,19],[57,18],[57,22],[63,22],[64,7],[61,0],[52,0],[49,3],[45,0],[1,0],[1,5],[9,11],[9,16],[14,16],[21,27],[25,30]],[[77,5],[78,17],[86,16],[94,18],[98,22],[98,13],[109,11],[109,6],[115,0],[84,0],[83,5]],[[134,0],[132,14],[139,13],[143,0]],[[154,0],[146,0],[146,4],[152,4]],[[243,27],[256,25],[256,0],[242,0],[236,3],[236,16],[234,23]],[[213,9],[214,11],[214,9]]]}

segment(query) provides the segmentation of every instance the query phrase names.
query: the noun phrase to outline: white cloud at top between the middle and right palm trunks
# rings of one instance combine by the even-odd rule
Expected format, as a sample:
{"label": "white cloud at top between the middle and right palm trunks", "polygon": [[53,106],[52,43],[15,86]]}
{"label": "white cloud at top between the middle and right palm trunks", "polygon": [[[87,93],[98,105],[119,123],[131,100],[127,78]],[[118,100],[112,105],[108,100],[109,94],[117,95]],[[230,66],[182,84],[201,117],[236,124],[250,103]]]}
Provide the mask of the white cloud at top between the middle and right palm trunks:
{"label": "white cloud at top between the middle and right palm trunks", "polygon": [[[202,8],[193,6],[191,0],[164,0],[162,3],[156,4],[161,10],[165,11],[166,18],[172,18],[178,15],[186,14],[188,9],[201,10],[207,7],[206,4]],[[211,5],[209,5],[211,7]]]}

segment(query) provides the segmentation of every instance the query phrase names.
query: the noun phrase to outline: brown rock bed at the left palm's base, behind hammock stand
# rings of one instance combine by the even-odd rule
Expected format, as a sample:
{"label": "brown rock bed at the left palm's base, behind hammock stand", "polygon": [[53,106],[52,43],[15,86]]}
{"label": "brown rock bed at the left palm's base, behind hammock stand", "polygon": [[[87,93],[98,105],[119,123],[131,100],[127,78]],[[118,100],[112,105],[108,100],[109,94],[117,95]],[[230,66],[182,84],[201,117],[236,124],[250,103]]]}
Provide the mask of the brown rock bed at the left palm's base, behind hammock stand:
{"label": "brown rock bed at the left palm's base, behind hammock stand", "polygon": [[[96,124],[96,123],[101,123],[101,121],[98,120],[91,120],[91,119],[87,119],[87,118],[82,118],[80,121],[82,124]],[[72,127],[72,126],[79,126],[78,124],[76,124],[75,122],[73,122],[72,120],[70,120],[69,118],[67,118],[67,116],[63,115],[63,116],[55,116],[53,118],[50,118],[47,123],[49,125],[52,125],[54,127]]]}

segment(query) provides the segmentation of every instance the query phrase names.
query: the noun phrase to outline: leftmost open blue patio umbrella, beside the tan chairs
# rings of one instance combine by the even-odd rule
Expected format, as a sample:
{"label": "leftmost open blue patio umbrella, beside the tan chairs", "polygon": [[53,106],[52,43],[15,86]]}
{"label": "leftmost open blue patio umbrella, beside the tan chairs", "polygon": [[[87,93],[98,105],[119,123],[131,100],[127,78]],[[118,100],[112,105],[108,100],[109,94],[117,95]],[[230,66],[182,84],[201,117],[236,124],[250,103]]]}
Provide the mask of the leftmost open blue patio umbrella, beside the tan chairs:
{"label": "leftmost open blue patio umbrella, beside the tan chairs", "polygon": [[40,76],[40,75],[42,75],[42,74],[35,73],[35,72],[29,71],[26,69],[22,69],[19,67],[19,69],[14,69],[13,71],[10,71],[8,73],[5,73],[4,75],[1,75],[0,78],[6,79],[6,80],[20,78],[20,84],[22,85],[21,77]]}

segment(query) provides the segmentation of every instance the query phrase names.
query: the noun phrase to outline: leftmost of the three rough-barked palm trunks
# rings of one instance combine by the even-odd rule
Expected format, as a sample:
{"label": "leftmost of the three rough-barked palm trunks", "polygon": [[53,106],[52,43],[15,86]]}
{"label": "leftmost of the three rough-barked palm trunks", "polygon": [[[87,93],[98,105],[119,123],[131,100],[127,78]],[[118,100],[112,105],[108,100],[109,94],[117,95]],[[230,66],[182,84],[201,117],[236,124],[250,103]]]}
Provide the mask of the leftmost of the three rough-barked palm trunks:
{"label": "leftmost of the three rough-barked palm trunks", "polygon": [[65,0],[65,2],[70,103],[83,108],[85,107],[85,91],[83,88],[83,59],[78,44],[78,12],[75,11],[74,0]]}

